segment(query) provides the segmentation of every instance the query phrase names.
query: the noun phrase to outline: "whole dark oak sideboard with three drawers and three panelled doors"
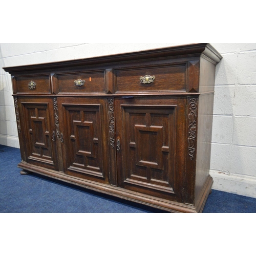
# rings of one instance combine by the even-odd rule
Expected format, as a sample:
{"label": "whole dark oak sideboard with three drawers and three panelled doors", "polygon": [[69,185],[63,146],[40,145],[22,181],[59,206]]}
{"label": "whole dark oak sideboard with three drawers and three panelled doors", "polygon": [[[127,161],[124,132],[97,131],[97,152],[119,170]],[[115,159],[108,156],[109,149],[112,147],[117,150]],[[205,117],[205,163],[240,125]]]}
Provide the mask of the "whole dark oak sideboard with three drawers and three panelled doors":
{"label": "whole dark oak sideboard with three drawers and three panelled doors", "polygon": [[169,212],[202,212],[213,183],[221,58],[202,43],[4,68],[12,76],[21,174]]}

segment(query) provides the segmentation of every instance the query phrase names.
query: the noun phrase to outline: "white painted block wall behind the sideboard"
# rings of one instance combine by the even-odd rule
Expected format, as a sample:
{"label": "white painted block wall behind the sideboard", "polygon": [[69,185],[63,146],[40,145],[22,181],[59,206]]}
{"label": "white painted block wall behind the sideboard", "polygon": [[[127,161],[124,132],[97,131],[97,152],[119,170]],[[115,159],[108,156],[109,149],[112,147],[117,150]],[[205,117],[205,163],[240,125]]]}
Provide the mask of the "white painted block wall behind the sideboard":
{"label": "white painted block wall behind the sideboard", "polygon": [[[2,67],[88,58],[185,43],[0,44],[0,144],[18,147],[10,75]],[[215,189],[256,198],[256,44],[211,43],[216,67],[211,147]]]}

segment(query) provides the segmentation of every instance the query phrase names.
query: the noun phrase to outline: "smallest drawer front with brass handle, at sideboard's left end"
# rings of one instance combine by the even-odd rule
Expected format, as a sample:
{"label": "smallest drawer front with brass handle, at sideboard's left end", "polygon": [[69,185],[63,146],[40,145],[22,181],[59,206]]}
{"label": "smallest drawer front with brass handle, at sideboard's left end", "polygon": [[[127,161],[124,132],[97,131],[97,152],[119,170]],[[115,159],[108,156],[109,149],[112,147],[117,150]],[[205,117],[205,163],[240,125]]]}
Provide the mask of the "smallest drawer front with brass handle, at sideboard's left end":
{"label": "smallest drawer front with brass handle, at sideboard's left end", "polygon": [[50,76],[16,77],[17,93],[51,94]]}

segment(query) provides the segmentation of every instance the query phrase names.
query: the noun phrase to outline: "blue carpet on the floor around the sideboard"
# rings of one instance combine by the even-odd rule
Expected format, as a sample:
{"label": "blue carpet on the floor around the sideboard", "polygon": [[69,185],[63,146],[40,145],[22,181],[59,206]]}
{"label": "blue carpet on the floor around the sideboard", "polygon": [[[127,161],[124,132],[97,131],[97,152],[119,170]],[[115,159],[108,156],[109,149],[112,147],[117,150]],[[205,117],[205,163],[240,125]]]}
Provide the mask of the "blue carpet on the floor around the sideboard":
{"label": "blue carpet on the floor around the sideboard", "polygon": [[[0,145],[0,212],[164,213],[37,174],[22,176],[18,148]],[[256,199],[212,190],[204,213],[256,212]]]}

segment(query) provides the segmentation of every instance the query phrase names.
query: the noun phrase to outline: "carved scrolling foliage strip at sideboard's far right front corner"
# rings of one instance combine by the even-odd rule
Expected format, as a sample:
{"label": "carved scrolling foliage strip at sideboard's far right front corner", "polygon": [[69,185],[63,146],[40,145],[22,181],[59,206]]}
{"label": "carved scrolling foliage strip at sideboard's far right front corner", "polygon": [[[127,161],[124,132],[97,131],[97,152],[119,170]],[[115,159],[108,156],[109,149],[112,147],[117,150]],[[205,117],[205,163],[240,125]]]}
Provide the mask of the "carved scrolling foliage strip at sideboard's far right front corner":
{"label": "carved scrolling foliage strip at sideboard's far right front corner", "polygon": [[188,155],[193,160],[196,153],[196,135],[197,135],[197,99],[189,99],[188,106]]}

